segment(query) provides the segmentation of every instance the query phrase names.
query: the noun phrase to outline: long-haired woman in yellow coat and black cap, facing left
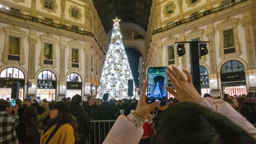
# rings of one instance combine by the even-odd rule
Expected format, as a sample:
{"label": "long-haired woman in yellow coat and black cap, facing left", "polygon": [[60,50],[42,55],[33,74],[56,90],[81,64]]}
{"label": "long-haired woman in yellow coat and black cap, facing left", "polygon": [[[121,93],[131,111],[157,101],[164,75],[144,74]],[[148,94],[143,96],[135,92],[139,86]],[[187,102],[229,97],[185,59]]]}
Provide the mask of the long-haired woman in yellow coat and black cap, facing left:
{"label": "long-haired woman in yellow coat and black cap, facing left", "polygon": [[76,118],[69,114],[65,102],[56,102],[51,108],[50,118],[41,133],[40,144],[74,144],[78,140]]}

